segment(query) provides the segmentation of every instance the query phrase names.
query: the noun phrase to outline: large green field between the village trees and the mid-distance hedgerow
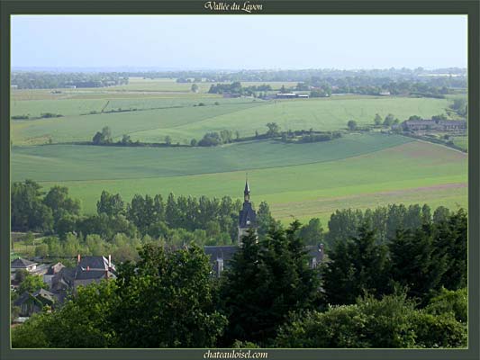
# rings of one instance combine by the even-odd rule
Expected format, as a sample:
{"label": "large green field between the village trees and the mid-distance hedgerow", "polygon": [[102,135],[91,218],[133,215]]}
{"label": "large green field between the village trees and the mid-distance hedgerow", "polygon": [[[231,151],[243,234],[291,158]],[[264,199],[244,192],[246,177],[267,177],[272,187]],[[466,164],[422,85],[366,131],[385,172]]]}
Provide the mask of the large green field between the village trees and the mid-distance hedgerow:
{"label": "large green field between the village trees and the mid-distance hedgerow", "polygon": [[68,186],[86,212],[95,211],[104,189],[126,200],[135,193],[170,192],[240,198],[247,171],[253,201],[267,201],[282,220],[294,215],[326,221],[335,209],[393,202],[466,206],[466,154],[380,134],[336,141],[264,141],[196,154],[198,149],[190,148],[16,148],[12,167],[15,180],[30,177],[47,188]]}

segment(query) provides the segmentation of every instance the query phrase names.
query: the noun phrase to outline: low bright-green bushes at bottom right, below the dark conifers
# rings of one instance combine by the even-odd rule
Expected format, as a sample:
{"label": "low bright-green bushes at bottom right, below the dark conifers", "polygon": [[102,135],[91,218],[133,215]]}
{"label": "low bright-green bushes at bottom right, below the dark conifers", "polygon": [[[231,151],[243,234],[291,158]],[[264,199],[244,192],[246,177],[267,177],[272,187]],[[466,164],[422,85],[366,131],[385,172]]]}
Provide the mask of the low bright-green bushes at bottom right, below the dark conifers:
{"label": "low bright-green bushes at bottom right, below the dark conifers", "polygon": [[431,348],[466,347],[466,324],[451,313],[415,309],[404,293],[353,305],[293,314],[279,331],[276,347]]}

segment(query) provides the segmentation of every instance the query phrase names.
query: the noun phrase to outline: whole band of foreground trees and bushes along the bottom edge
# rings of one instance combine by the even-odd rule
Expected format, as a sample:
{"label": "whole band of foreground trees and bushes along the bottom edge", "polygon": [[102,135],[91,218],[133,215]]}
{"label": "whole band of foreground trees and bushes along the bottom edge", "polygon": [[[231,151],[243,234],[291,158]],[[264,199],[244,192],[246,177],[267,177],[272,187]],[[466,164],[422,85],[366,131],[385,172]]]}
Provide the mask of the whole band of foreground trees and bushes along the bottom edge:
{"label": "whole band of foreground trees and bushes along the bottom edge", "polygon": [[466,212],[376,242],[365,223],[308,266],[302,227],[250,231],[220,279],[155,243],[117,278],[13,330],[14,347],[466,347]]}

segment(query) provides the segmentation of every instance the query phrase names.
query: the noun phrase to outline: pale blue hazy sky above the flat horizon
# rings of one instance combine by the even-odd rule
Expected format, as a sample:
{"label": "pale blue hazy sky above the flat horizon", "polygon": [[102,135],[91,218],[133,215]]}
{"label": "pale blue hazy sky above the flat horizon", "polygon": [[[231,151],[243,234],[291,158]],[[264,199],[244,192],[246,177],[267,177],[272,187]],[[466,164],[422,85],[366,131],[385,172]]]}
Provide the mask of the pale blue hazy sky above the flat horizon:
{"label": "pale blue hazy sky above the flat horizon", "polygon": [[12,67],[466,67],[466,15],[14,15]]}

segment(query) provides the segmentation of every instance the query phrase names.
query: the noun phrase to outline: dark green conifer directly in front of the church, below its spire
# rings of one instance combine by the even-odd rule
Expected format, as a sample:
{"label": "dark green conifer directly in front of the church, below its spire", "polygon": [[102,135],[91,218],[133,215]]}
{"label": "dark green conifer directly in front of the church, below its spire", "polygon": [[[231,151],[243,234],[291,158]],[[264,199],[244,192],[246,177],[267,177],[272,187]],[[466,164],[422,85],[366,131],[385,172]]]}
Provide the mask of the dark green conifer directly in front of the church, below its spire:
{"label": "dark green conifer directly in front of the church, below its spire", "polygon": [[299,228],[294,221],[289,229],[270,229],[259,240],[253,231],[242,238],[221,287],[229,319],[224,345],[240,340],[266,346],[289,311],[319,304],[319,277],[308,266]]}

